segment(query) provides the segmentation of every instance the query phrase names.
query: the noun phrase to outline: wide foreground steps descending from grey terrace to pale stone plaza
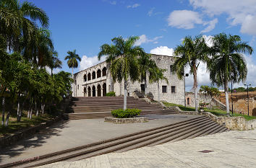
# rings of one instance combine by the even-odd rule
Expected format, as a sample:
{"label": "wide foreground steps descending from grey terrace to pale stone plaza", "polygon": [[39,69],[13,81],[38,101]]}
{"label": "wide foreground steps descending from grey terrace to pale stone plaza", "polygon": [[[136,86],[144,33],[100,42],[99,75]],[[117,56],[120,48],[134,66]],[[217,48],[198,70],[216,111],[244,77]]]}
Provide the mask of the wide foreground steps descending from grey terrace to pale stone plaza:
{"label": "wide foreground steps descending from grey terrace to pale stone plaza", "polygon": [[0,164],[0,167],[36,167],[59,161],[71,162],[109,152],[128,151],[142,146],[155,146],[161,143],[221,133],[223,131],[228,131],[228,129],[210,120],[210,118],[199,115],[197,118],[184,120],[179,123],[171,123],[158,128],[151,128],[125,136],[98,141],[85,146],[77,146],[76,148],[37,156],[33,159],[23,159],[19,162]]}

